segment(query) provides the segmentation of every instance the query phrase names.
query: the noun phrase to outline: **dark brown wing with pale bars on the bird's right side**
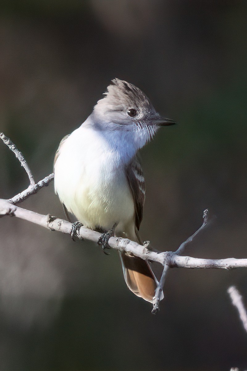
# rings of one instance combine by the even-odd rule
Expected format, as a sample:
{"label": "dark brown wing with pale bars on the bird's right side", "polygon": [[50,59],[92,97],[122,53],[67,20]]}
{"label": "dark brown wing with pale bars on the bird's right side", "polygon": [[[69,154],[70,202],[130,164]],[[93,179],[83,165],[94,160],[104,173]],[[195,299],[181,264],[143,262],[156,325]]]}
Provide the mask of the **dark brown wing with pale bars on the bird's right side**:
{"label": "dark brown wing with pale bars on the bird's right side", "polygon": [[145,201],[145,181],[140,160],[137,155],[135,155],[126,166],[125,171],[135,204],[136,228],[139,230]]}

